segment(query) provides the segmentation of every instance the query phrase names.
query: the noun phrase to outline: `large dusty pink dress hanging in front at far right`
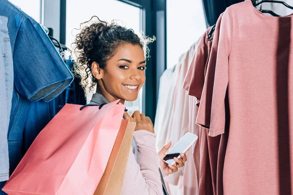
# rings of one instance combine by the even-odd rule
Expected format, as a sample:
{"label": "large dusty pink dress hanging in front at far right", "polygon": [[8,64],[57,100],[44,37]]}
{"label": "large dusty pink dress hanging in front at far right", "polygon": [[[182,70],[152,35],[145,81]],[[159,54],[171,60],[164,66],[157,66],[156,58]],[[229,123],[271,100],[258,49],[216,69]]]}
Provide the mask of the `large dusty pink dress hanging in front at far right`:
{"label": "large dusty pink dress hanging in front at far right", "polygon": [[213,82],[204,87],[212,85],[211,103],[203,93],[197,123],[210,136],[229,129],[225,195],[293,193],[292,21],[265,16],[251,1],[223,15]]}

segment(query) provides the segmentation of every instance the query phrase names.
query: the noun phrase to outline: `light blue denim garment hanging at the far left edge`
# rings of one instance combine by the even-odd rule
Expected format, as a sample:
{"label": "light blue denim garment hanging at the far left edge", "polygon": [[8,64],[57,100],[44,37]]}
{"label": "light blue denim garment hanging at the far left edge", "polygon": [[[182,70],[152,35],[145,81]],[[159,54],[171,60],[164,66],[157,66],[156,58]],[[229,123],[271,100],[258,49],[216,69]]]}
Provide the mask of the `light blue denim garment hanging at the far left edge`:
{"label": "light blue denim garment hanging at the far left edge", "polygon": [[9,177],[7,133],[13,90],[13,62],[7,22],[6,17],[0,16],[0,181],[6,181]]}

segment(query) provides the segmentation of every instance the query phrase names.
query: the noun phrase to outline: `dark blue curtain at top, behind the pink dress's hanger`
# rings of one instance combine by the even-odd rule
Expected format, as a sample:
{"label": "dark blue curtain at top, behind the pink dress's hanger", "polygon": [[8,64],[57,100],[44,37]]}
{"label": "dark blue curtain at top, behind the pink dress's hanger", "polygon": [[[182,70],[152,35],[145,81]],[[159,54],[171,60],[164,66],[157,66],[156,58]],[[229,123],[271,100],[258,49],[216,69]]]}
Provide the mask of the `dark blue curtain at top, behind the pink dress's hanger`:
{"label": "dark blue curtain at top, behind the pink dress's hanger", "polygon": [[227,7],[242,1],[244,0],[203,0],[207,27],[214,25]]}

